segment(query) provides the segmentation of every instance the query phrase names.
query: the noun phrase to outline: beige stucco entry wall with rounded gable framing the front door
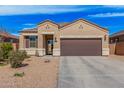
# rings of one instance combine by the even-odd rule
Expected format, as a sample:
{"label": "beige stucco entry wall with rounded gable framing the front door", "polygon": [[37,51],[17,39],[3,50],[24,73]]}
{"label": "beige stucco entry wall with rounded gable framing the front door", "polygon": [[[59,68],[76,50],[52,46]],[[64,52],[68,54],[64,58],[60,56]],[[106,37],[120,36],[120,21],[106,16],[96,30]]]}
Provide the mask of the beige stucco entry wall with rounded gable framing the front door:
{"label": "beige stucco entry wall with rounded gable framing the front door", "polygon": [[[49,27],[49,28],[47,28]],[[47,29],[46,29],[47,28]],[[43,42],[43,40],[45,39],[40,39],[42,36],[45,35],[53,35],[53,40],[56,38],[57,42],[54,42],[54,46],[53,46],[53,55],[59,54],[58,53],[58,48],[60,48],[60,38],[59,38],[59,29],[58,29],[58,25],[51,23],[51,22],[44,22],[40,25],[38,25],[38,42]],[[39,47],[41,49],[45,49],[43,47],[43,45],[41,46],[39,44]],[[60,52],[60,51],[59,51]],[[60,55],[60,54],[59,54]]]}

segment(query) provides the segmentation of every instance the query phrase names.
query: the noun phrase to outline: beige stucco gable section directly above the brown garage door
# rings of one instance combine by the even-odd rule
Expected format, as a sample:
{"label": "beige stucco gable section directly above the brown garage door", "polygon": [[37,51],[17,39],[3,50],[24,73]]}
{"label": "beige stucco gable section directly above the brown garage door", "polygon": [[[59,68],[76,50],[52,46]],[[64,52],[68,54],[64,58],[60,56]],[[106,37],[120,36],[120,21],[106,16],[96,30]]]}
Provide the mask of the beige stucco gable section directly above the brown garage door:
{"label": "beige stucco gable section directly above the brown garage door", "polygon": [[[83,29],[79,29],[80,25],[83,26]],[[88,23],[85,23],[83,21],[77,21],[67,27],[60,29],[61,36],[103,36],[108,35],[108,32],[106,30],[100,29],[98,27],[94,27],[93,25],[89,25]],[[107,39],[108,41],[108,39]]]}

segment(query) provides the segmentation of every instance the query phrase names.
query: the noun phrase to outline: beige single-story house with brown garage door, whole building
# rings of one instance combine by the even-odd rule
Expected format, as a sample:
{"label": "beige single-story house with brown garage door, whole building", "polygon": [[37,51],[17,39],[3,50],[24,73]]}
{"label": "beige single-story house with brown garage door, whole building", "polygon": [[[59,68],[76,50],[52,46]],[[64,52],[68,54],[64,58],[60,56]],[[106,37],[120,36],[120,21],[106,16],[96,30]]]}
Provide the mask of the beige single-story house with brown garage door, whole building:
{"label": "beige single-story house with brown garage door, whole building", "polygon": [[39,56],[109,55],[108,36],[107,29],[84,19],[60,24],[46,20],[21,31],[19,49]]}

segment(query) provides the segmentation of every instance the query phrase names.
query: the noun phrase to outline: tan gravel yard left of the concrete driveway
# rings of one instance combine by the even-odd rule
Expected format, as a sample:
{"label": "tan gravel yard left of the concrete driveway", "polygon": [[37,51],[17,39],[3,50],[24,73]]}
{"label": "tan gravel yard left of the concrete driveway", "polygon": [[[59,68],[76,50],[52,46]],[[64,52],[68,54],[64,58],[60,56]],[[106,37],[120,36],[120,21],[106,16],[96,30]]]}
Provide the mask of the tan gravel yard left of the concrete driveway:
{"label": "tan gravel yard left of the concrete driveway", "polygon": [[[44,62],[49,59],[50,62]],[[31,57],[24,67],[13,69],[9,65],[0,67],[0,87],[52,88],[57,87],[59,57]],[[23,77],[13,76],[24,72]]]}

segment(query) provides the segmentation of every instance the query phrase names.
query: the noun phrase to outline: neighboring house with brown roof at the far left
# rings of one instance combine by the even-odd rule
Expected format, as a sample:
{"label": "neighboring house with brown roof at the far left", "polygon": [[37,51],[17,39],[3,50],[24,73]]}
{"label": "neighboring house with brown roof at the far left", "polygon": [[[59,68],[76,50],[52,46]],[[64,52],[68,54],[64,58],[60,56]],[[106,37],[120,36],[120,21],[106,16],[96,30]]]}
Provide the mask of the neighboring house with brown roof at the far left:
{"label": "neighboring house with brown roof at the far left", "polygon": [[18,37],[11,35],[5,31],[0,31],[0,43],[9,42],[12,43],[14,50],[18,49]]}

